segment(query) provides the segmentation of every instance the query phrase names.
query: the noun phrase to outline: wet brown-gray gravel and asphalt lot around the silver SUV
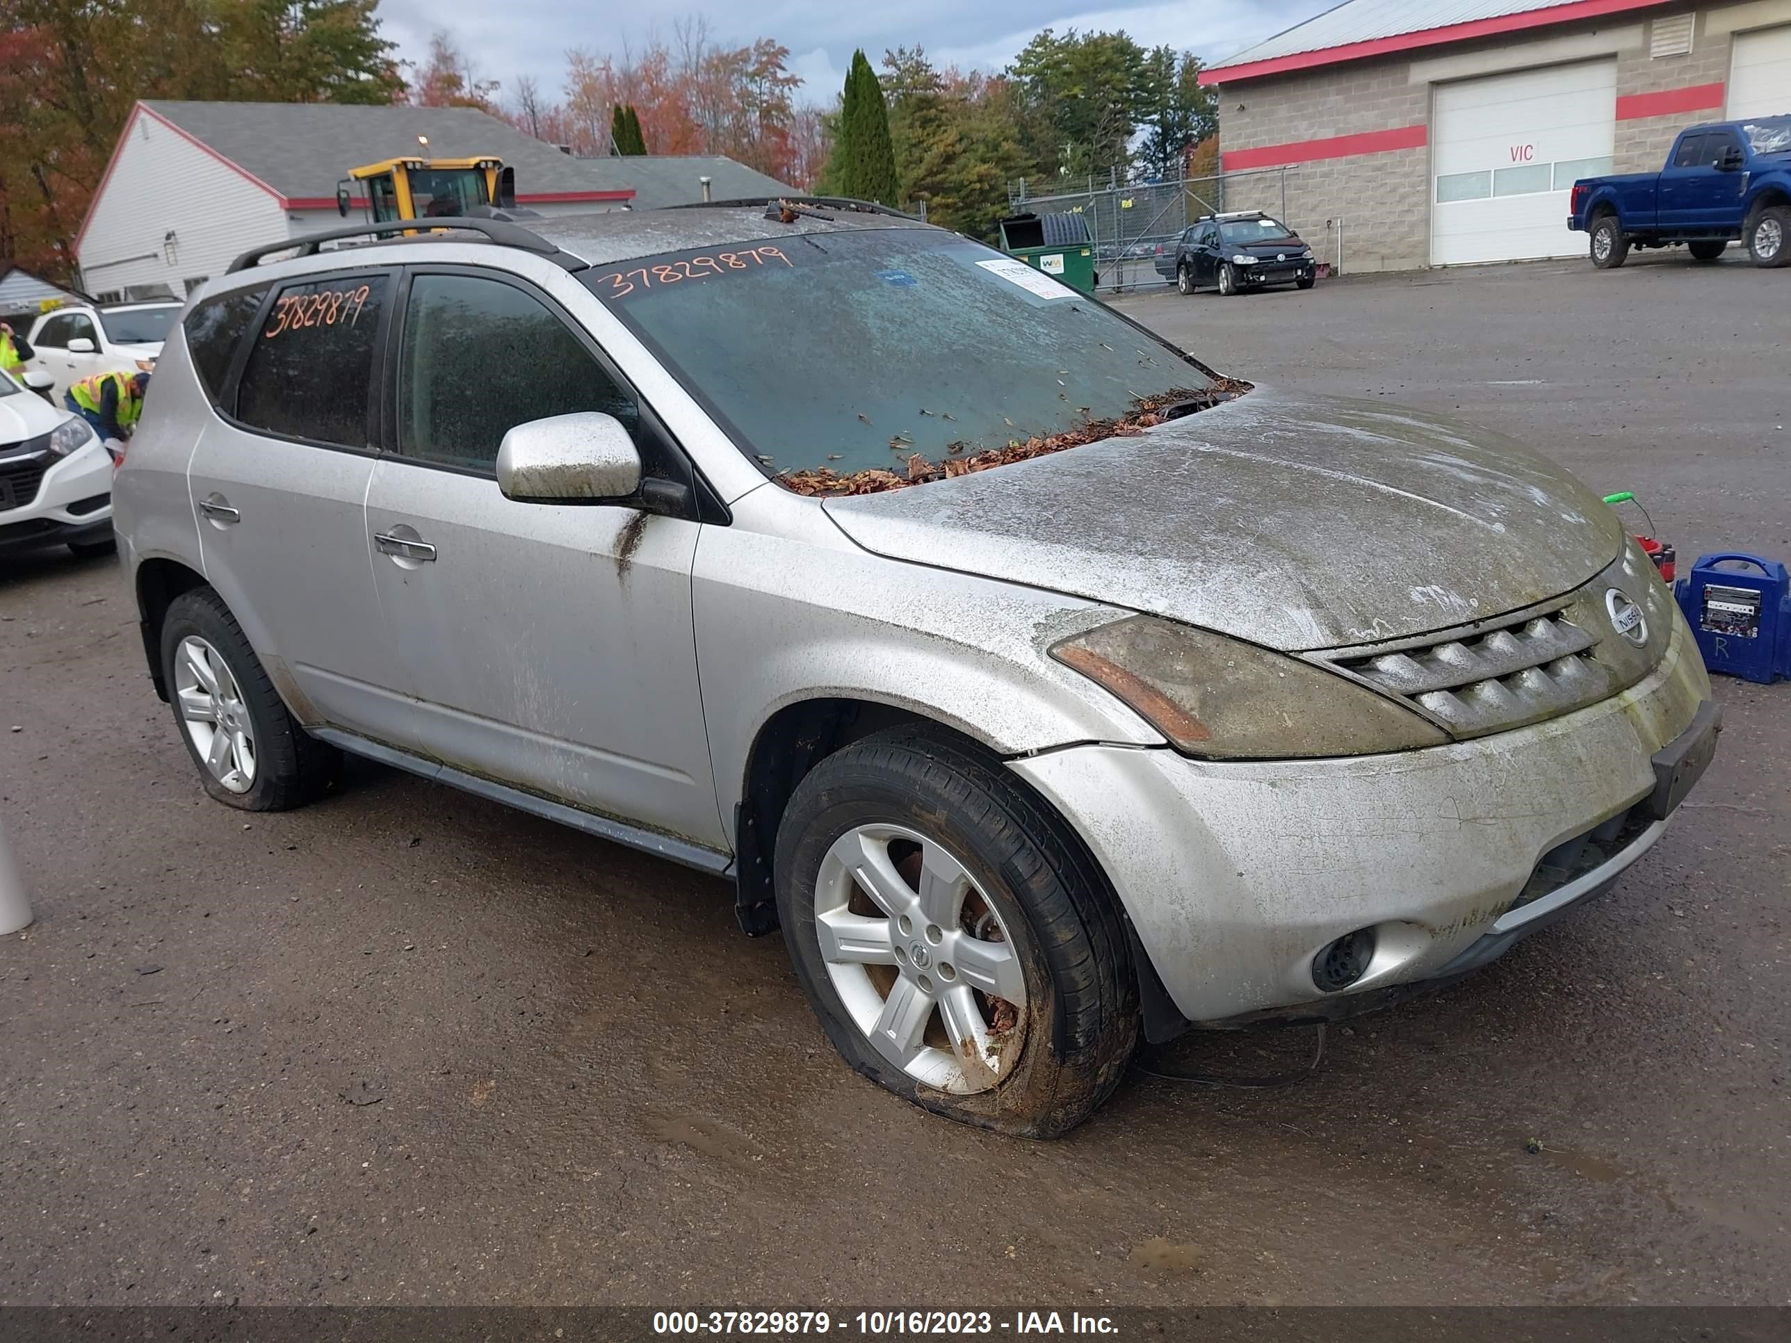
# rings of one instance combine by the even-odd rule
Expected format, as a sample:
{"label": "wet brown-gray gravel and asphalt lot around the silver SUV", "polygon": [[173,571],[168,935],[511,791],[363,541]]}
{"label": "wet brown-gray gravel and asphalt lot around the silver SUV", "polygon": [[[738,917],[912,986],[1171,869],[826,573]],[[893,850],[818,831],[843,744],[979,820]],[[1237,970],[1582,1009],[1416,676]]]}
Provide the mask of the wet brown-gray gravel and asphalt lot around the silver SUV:
{"label": "wet brown-gray gravel and asphalt lot around the silver SUV", "polygon": [[[1791,555],[1787,297],[1669,254],[1127,308],[1530,439],[1689,564]],[[0,560],[0,684],[39,913],[0,938],[0,1302],[1791,1300],[1791,686],[1721,680],[1723,752],[1615,892],[1318,1076],[1134,1076],[1023,1144],[838,1064],[720,881],[373,766],[210,802],[109,560]]]}

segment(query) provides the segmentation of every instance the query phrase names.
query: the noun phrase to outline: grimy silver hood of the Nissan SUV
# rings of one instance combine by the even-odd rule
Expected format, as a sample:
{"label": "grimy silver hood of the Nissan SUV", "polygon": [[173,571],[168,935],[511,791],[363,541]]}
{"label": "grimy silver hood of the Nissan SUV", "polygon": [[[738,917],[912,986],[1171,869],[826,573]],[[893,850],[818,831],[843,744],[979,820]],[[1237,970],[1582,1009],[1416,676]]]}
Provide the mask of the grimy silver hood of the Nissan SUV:
{"label": "grimy silver hood of the Nissan SUV", "polygon": [[1264,387],[1141,437],[824,507],[878,555],[1282,650],[1497,616],[1623,548],[1598,494],[1510,439]]}

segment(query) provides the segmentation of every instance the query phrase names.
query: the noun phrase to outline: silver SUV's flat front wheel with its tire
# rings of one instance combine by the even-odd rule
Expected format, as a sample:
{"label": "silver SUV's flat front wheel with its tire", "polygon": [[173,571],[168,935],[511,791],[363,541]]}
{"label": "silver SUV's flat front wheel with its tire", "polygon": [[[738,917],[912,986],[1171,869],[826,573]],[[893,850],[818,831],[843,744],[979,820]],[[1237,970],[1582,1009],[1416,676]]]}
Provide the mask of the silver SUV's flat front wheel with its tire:
{"label": "silver SUV's flat front wheel with its tire", "polygon": [[777,831],[777,913],[833,1046],[935,1114],[1057,1137],[1132,1058],[1132,958],[1094,860],[940,732],[879,732],[802,779]]}

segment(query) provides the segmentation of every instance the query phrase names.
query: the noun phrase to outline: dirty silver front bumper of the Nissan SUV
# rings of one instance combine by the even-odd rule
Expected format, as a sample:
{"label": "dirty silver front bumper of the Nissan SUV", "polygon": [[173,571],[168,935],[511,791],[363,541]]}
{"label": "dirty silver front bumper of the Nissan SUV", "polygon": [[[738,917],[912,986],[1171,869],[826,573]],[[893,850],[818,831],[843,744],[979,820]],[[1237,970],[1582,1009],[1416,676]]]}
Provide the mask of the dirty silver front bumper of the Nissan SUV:
{"label": "dirty silver front bumper of the Nissan SUV", "polygon": [[[1675,618],[1639,684],[1474,741],[1243,765],[1089,745],[1010,768],[1094,851],[1182,1017],[1345,1015],[1345,999],[1384,1001],[1483,965],[1615,881],[1664,822],[1608,836],[1615,851],[1574,876],[1572,895],[1517,906],[1546,856],[1642,815],[1632,808],[1655,797],[1653,757],[1709,697]],[[1341,994],[1320,990],[1313,958],[1363,928],[1375,929],[1367,972]]]}

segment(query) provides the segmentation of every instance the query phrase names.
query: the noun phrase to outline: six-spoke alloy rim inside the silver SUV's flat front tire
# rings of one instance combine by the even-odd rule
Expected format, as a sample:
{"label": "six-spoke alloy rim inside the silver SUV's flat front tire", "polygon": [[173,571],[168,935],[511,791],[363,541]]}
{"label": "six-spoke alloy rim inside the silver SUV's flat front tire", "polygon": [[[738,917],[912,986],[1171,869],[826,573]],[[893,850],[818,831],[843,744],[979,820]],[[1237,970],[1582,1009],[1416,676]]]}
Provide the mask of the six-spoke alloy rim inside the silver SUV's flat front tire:
{"label": "six-spoke alloy rim inside the silver SUV's flat front tire", "polygon": [[1012,1071],[1026,974],[964,863],[904,825],[854,825],[820,863],[815,933],[870,1046],[915,1082],[965,1096]]}

